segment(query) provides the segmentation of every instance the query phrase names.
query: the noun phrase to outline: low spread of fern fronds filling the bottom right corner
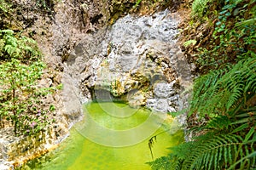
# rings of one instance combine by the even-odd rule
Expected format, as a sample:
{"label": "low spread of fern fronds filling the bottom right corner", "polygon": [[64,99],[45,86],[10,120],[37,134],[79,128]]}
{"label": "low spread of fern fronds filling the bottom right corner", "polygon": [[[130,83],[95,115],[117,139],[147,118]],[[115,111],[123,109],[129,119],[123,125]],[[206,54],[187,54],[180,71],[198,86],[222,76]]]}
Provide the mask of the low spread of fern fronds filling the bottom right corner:
{"label": "low spread of fern fronds filling the bottom right corner", "polygon": [[172,147],[169,156],[148,164],[155,170],[250,169],[256,163],[255,142],[253,127],[244,138],[237,134],[209,131],[193,141]]}

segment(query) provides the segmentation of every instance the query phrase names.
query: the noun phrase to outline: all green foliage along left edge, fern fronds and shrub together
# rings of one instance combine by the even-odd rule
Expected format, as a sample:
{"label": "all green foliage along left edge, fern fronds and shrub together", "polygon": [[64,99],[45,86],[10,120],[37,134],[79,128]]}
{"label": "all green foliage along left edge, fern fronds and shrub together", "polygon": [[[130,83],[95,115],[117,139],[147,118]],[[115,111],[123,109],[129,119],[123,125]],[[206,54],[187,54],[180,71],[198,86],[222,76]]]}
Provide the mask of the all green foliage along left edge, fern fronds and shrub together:
{"label": "all green foliage along left edge, fern fronds and shrub together", "polygon": [[8,121],[15,135],[37,133],[55,110],[45,110],[40,101],[51,89],[37,87],[45,66],[37,44],[11,30],[0,31],[0,37],[0,127]]}

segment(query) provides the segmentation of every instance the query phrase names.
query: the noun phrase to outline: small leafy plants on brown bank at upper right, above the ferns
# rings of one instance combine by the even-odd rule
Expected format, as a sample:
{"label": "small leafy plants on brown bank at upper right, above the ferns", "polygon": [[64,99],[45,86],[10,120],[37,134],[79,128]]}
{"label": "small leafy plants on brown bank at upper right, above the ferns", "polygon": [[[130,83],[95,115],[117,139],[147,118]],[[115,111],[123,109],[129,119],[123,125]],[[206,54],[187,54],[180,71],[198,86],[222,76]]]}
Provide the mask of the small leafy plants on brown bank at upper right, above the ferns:
{"label": "small leafy plants on brown bank at upper right, above the ferns", "polygon": [[[256,8],[254,0],[225,0],[207,48],[201,48],[197,64],[201,71],[223,68],[226,63],[255,54]],[[246,17],[245,17],[246,16]]]}

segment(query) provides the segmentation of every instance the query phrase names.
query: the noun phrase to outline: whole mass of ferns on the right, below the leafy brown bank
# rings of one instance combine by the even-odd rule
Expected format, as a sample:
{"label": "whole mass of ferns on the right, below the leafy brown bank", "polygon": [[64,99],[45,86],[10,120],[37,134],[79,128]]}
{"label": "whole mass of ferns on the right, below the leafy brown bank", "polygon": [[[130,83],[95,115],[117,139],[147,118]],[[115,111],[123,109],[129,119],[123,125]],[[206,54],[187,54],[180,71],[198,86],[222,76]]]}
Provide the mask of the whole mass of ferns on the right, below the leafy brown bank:
{"label": "whole mass of ferns on the right, below the leafy brown bank", "polygon": [[[256,163],[256,56],[195,80],[189,116],[208,122],[190,127],[192,141],[171,148],[152,169],[253,169]],[[152,147],[152,144],[151,144]]]}

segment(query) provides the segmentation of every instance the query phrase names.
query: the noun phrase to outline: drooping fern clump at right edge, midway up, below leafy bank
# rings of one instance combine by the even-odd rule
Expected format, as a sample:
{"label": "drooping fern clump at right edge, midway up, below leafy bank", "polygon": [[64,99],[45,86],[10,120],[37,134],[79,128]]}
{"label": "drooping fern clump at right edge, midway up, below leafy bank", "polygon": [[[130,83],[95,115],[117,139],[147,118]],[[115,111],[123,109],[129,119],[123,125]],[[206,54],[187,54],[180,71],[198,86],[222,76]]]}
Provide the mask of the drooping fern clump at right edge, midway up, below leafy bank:
{"label": "drooping fern clump at right edge, midway up, below leafy bank", "polygon": [[256,58],[249,58],[199,77],[194,85],[190,114],[221,115],[242,108],[256,93],[255,72]]}

